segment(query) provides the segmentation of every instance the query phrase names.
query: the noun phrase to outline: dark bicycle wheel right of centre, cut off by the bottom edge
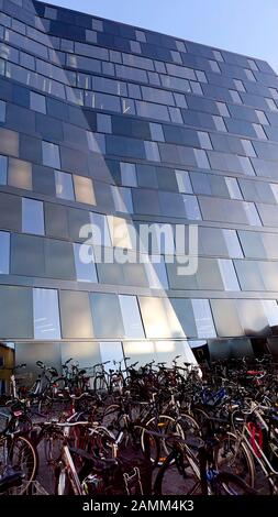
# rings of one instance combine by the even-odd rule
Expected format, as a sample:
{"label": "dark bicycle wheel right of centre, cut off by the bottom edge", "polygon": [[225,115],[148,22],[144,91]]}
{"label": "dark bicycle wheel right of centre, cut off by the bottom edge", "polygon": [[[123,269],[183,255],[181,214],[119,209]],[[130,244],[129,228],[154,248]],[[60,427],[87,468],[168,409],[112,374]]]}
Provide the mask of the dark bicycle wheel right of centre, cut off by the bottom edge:
{"label": "dark bicycle wheel right of centre, cut off by the bottom edge", "polygon": [[201,494],[199,466],[185,444],[175,448],[163,462],[155,479],[154,494]]}

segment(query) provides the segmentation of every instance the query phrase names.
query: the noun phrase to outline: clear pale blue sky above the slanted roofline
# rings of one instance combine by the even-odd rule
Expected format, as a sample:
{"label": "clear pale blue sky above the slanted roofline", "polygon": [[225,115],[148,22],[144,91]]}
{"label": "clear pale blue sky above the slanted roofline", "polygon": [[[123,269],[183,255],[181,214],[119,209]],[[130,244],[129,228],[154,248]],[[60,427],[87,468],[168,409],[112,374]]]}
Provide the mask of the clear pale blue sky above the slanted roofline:
{"label": "clear pale blue sky above the slanted roofline", "polygon": [[277,0],[52,0],[49,3],[260,57],[278,73]]}

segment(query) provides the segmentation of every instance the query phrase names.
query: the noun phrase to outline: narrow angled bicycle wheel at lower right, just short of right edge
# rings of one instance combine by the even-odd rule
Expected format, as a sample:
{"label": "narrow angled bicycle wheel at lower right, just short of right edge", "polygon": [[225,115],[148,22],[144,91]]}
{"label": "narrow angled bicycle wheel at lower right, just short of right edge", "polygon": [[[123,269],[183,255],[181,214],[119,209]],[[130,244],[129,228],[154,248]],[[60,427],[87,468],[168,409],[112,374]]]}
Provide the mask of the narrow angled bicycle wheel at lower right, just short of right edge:
{"label": "narrow angled bicycle wheel at lower right, just short of right edge", "polygon": [[[222,438],[214,449],[216,469],[240,476],[252,488],[255,483],[255,465],[247,448],[238,438],[229,432]],[[231,493],[229,485],[223,484],[227,494]]]}

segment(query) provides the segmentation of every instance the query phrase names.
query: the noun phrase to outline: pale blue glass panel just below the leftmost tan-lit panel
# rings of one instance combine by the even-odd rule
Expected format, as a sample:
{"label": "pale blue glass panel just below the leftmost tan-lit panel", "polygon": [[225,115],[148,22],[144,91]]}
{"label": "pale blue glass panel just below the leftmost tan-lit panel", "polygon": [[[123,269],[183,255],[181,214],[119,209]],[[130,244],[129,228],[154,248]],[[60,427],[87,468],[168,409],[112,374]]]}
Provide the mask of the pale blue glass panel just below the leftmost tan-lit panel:
{"label": "pale blue glass panel just below the leftmost tan-lit panel", "polygon": [[22,198],[22,231],[44,235],[44,206],[42,201]]}

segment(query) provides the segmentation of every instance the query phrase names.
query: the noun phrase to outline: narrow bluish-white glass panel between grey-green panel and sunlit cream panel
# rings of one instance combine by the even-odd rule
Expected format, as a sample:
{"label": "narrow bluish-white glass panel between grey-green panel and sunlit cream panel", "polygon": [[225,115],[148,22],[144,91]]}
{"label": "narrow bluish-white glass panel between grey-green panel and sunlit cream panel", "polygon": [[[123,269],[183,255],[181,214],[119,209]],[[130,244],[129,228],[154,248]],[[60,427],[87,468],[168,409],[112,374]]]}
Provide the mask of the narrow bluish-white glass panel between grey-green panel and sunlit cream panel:
{"label": "narrow bluish-white glass panel between grey-green panel and sunlit cream panel", "polygon": [[144,338],[144,329],[136,296],[119,295],[125,338]]}

